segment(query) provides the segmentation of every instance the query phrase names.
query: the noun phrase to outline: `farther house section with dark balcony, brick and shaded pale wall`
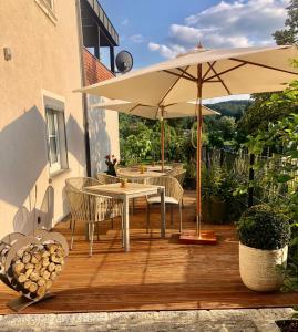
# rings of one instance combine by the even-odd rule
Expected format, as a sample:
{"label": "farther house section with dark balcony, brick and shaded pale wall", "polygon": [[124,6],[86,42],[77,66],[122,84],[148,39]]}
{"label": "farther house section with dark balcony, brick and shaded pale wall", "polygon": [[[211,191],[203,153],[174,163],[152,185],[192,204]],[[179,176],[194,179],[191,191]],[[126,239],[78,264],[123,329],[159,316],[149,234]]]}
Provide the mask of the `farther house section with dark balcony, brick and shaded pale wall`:
{"label": "farther house section with dark balcony, brick and shaded pale wall", "polygon": [[[99,1],[81,0],[81,22],[84,61],[84,85],[91,85],[115,75],[114,48],[119,34]],[[94,107],[101,97],[88,95],[90,174],[105,170],[104,157],[120,155],[119,114]],[[113,137],[113,139],[111,139]]]}

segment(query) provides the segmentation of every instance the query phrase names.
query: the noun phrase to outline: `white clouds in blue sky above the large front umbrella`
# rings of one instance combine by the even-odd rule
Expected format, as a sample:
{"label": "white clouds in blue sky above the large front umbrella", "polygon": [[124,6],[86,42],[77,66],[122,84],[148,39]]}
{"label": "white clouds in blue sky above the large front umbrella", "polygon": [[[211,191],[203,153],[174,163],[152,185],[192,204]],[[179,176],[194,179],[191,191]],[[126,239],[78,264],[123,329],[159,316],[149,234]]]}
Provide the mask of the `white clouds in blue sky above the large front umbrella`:
{"label": "white clouds in blue sky above the large front umbrella", "polygon": [[165,44],[154,44],[165,58],[192,49],[199,41],[205,48],[236,48],[274,43],[273,32],[284,27],[289,0],[234,0],[192,14],[184,24],[172,24]]}

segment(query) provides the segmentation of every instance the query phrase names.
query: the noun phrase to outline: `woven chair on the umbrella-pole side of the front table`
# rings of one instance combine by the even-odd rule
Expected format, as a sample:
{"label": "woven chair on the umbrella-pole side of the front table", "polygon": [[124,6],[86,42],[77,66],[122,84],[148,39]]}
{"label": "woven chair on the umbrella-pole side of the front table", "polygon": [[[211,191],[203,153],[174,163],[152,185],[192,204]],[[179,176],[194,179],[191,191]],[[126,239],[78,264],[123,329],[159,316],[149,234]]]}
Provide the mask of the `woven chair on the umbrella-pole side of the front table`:
{"label": "woven chair on the umbrella-pole side of the front table", "polygon": [[[183,188],[179,181],[171,176],[151,177],[147,179],[147,184],[154,186],[165,187],[165,204],[171,206],[171,224],[174,228],[174,210],[173,207],[177,206],[179,209],[179,231],[182,231],[182,200],[183,200]],[[151,205],[161,204],[161,196],[148,196],[147,197],[147,231],[150,227],[150,210]]]}

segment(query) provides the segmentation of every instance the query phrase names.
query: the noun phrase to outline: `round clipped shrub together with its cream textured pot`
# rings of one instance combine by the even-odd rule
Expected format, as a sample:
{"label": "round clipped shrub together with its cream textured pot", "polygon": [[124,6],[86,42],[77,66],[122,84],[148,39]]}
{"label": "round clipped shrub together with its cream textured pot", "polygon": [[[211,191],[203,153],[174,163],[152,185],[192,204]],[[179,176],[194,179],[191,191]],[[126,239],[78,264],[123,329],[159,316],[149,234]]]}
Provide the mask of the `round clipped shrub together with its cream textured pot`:
{"label": "round clipped shrub together with its cream textured pot", "polygon": [[277,266],[286,266],[290,225],[267,205],[247,209],[237,222],[239,269],[244,284],[255,291],[275,291],[282,284]]}

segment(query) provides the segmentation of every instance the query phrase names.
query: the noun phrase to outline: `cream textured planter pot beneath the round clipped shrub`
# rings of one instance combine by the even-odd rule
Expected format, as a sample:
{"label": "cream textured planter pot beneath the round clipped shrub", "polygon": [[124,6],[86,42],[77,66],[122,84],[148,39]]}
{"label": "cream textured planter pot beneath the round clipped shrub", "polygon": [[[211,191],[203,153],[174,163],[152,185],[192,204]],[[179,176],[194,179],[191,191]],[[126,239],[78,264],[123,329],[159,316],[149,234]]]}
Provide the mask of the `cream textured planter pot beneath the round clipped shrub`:
{"label": "cream textured planter pot beneath the round clipped shrub", "polygon": [[258,292],[278,290],[282,277],[277,271],[277,264],[286,264],[288,246],[279,250],[255,249],[239,243],[239,269],[243,283]]}

